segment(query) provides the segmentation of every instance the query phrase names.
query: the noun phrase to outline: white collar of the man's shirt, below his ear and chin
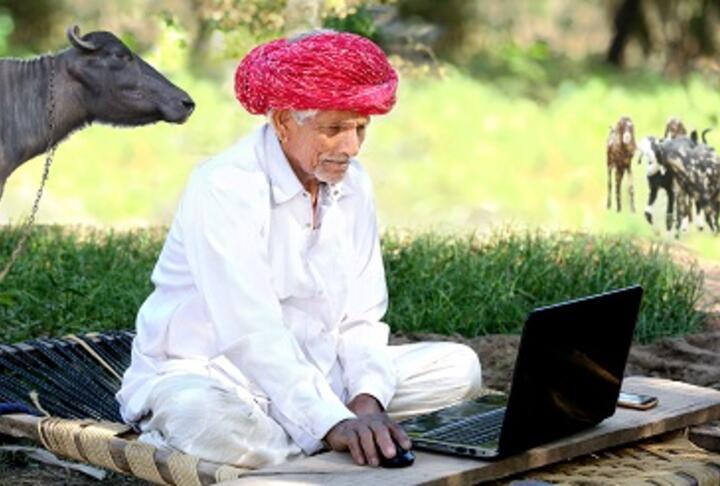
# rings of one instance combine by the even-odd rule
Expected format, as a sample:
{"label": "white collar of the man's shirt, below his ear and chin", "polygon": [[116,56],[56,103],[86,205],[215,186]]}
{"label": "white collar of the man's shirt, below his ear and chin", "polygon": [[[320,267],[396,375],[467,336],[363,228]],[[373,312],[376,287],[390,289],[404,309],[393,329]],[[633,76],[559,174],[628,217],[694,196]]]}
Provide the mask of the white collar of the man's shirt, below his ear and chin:
{"label": "white collar of the man's shirt, below his ear and chin", "polygon": [[[285,153],[282,151],[280,141],[275,133],[275,129],[270,123],[266,124],[264,130],[265,137],[265,153],[266,159],[266,173],[270,178],[270,187],[272,190],[273,201],[276,204],[282,204],[303,192],[305,188],[298,180],[290,162],[285,157]],[[322,184],[321,190],[331,200],[337,201],[343,196],[350,194],[350,184],[347,183],[347,178],[350,177],[350,171],[354,168],[350,162],[348,167],[348,173],[345,174],[345,178],[337,184]]]}

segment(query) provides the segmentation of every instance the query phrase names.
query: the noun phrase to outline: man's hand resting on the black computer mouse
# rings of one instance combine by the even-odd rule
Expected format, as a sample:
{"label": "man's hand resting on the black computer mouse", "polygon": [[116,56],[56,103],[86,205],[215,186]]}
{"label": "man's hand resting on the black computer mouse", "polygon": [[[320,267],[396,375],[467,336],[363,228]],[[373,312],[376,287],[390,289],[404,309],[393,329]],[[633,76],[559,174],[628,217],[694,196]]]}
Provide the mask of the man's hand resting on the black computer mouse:
{"label": "man's hand resting on the black computer mouse", "polygon": [[393,438],[400,447],[412,447],[402,427],[381,412],[343,420],[330,429],[324,440],[334,451],[349,450],[356,464],[378,466],[378,454],[387,458],[395,456]]}

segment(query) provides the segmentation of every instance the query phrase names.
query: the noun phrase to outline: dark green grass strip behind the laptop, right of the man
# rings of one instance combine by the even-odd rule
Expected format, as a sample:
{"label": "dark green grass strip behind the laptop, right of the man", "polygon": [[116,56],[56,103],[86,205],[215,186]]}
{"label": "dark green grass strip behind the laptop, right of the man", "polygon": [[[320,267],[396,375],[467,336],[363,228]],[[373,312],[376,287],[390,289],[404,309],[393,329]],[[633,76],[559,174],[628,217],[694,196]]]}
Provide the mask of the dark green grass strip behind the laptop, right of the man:
{"label": "dark green grass strip behind the laptop, right of the man", "polygon": [[640,342],[697,330],[704,317],[702,272],[629,238],[503,230],[483,239],[391,233],[383,243],[395,331],[517,333],[534,307],[635,283],[645,289]]}

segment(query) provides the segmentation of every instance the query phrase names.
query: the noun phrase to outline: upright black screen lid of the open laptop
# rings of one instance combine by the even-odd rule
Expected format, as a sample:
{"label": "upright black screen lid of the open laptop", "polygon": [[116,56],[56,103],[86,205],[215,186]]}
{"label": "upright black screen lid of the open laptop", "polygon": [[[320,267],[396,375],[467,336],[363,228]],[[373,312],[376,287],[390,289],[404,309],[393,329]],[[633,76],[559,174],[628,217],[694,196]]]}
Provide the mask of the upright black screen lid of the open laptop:
{"label": "upright black screen lid of the open laptop", "polygon": [[503,455],[615,412],[641,299],[634,286],[530,313],[500,437]]}

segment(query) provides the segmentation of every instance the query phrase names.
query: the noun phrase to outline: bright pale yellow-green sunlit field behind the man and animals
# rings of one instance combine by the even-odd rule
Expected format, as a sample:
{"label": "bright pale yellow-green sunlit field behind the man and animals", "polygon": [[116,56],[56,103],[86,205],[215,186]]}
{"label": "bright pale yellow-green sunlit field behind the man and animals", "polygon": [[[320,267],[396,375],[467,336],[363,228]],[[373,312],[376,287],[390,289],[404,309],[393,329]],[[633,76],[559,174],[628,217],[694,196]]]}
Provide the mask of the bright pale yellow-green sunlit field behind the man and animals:
{"label": "bright pale yellow-green sunlit field behind the man and animals", "polygon": [[[234,100],[232,65],[213,80],[191,76],[167,49],[148,57],[192,94],[196,113],[183,126],[96,126],[72,136],[58,150],[41,221],[167,224],[192,167],[263,122]],[[361,157],[383,227],[456,232],[510,223],[672,241],[642,218],[643,166],[633,174],[638,212],[605,209],[608,127],[627,114],[638,136],[661,135],[667,118],[680,116],[690,127],[714,128],[712,142],[720,107],[713,84],[698,75],[673,82],[589,61],[519,59],[479,58],[442,66],[439,75],[403,77],[396,109],[373,120]],[[10,178],[0,219],[27,212],[41,166],[36,159]],[[720,258],[710,235],[691,232],[682,242]]]}

